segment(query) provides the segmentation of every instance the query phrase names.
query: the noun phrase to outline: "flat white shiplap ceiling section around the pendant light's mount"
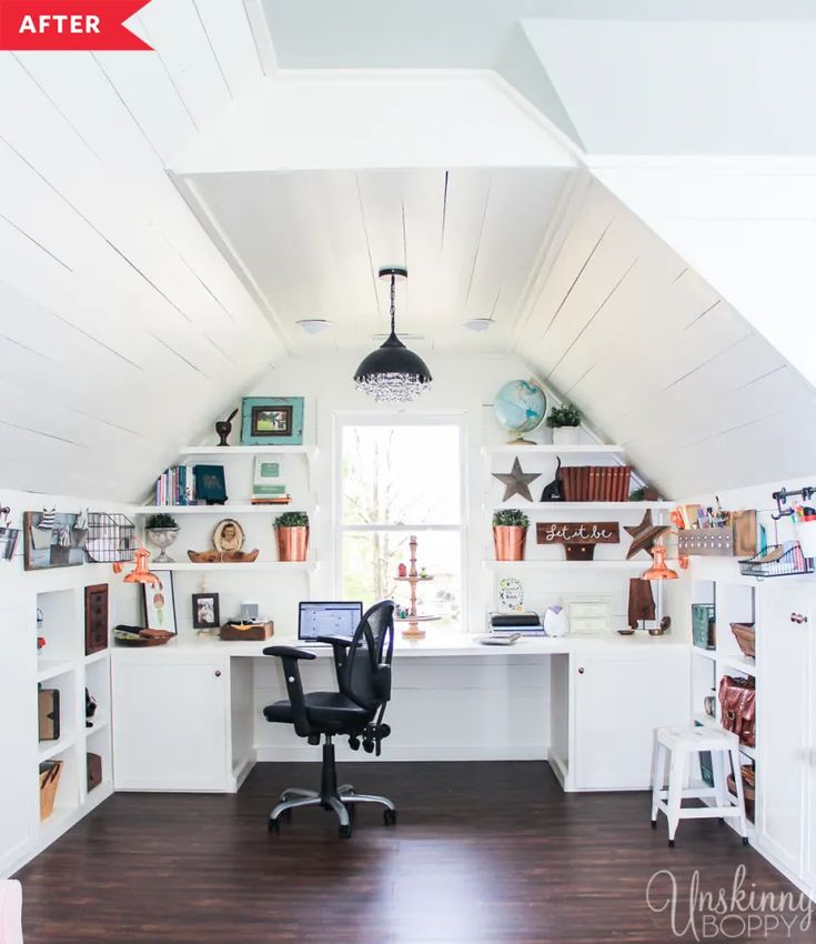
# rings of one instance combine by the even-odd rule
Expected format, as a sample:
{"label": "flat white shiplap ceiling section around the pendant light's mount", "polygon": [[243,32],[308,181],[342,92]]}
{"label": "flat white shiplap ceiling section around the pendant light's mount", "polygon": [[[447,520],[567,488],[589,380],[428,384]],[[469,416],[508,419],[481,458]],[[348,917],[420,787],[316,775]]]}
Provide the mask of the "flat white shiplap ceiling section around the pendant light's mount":
{"label": "flat white shiplap ceiling section around the pendant light's mount", "polygon": [[[508,350],[570,172],[296,171],[185,178],[208,227],[290,350],[356,348],[387,328],[380,268],[405,267],[397,327],[429,345]],[[487,318],[476,334],[463,323]],[[305,335],[304,319],[325,319]]]}

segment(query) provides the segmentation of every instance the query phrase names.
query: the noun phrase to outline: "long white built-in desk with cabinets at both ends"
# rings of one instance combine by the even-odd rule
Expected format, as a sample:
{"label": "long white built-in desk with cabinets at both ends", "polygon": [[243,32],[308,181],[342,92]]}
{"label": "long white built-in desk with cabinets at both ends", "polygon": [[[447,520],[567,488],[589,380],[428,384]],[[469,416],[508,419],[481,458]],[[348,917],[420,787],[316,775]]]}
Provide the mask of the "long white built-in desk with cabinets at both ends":
{"label": "long white built-in desk with cabinets at both ends", "polygon": [[[182,634],[115,647],[117,790],[233,792],[256,761],[318,761],[265,704],[286,697],[266,642]],[[334,690],[330,647],[301,663],[305,691]],[[536,637],[485,646],[437,630],[397,637],[384,761],[547,760],[567,791],[646,790],[654,729],[689,723],[691,645],[671,635]],[[370,760],[338,740],[341,761]]]}

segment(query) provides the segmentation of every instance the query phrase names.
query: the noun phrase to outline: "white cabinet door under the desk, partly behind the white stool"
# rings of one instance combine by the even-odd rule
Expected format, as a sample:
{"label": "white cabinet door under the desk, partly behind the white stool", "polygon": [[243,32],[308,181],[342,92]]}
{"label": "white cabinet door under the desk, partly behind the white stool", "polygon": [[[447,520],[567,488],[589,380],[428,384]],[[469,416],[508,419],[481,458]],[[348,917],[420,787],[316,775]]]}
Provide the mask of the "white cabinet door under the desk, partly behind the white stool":
{"label": "white cabinet door under the desk, partly behind the white stool", "polygon": [[688,724],[688,659],[574,656],[577,790],[648,789],[655,727]]}

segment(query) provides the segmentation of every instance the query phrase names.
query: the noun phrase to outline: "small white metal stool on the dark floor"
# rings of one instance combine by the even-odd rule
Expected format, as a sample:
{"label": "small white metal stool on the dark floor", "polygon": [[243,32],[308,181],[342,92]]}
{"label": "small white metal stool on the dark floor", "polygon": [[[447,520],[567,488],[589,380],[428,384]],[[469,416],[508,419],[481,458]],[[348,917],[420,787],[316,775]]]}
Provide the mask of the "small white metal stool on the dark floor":
{"label": "small white metal stool on the dark floor", "polygon": [[[683,789],[688,771],[689,754],[709,751],[714,771],[714,786]],[[668,790],[663,789],[666,776],[666,757],[671,756],[668,770]],[[737,795],[734,796],[727,784],[727,763],[734,773]],[[683,806],[684,800],[713,797],[712,806]],[[668,819],[668,844],[674,845],[674,836],[681,820],[701,820],[716,816],[739,821],[739,835],[748,842],[745,822],[745,796],[743,776],[739,770],[739,739],[729,731],[713,727],[658,727],[655,735],[654,780],[652,786],[652,827],[657,826],[657,813],[663,811]]]}

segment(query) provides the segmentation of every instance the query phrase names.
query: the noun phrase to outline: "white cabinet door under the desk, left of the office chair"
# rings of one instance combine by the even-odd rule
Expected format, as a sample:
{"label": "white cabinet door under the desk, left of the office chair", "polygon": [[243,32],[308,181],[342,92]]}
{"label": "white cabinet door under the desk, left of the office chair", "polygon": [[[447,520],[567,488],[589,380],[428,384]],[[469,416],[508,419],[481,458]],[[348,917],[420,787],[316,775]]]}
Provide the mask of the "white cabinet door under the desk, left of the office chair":
{"label": "white cabinet door under the desk, left of the office chair", "polygon": [[223,664],[113,660],[117,790],[228,789],[230,720]]}

